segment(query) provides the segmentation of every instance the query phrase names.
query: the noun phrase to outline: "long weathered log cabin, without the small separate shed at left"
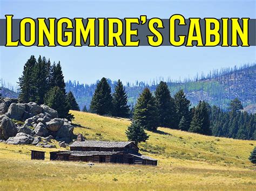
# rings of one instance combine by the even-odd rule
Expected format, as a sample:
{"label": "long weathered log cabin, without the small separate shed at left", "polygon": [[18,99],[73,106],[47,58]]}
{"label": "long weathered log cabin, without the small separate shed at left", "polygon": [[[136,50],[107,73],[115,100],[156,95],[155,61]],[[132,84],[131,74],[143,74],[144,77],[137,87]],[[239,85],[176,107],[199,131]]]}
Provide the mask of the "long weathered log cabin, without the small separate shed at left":
{"label": "long weathered log cabin, without the small separate shed at left", "polygon": [[51,160],[157,165],[157,160],[139,153],[134,142],[77,141],[70,151],[50,152]]}

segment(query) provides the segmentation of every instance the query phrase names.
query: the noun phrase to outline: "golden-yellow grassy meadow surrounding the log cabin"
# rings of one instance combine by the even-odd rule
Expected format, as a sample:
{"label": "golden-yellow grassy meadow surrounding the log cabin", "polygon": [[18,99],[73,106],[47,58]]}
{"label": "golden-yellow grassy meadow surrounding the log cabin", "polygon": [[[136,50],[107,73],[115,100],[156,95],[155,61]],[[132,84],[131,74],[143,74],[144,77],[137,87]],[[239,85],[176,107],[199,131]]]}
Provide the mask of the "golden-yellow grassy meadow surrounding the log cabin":
{"label": "golden-yellow grassy meadow surrounding the log cabin", "polygon": [[[74,132],[86,139],[127,140],[130,121],[72,111]],[[50,161],[49,151],[0,143],[1,190],[255,190],[256,166],[248,157],[256,141],[197,135],[158,128],[147,132],[141,153],[158,166]],[[46,151],[45,161],[30,160],[31,149]],[[64,149],[64,148],[61,148]],[[64,149],[65,150],[65,149]]]}

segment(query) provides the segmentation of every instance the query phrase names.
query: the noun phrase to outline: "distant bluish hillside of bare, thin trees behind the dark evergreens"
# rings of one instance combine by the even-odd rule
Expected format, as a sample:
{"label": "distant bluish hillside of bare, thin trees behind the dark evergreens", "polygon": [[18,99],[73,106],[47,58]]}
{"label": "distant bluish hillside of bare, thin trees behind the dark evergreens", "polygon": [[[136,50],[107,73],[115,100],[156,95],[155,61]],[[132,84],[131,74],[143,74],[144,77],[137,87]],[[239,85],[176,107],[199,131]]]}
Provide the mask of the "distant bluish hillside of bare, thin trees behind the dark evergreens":
{"label": "distant bluish hillside of bare, thin trees behind the dark evergreens", "polygon": [[[120,79],[122,80],[122,79]],[[200,100],[206,100],[212,105],[218,105],[226,109],[228,103],[235,97],[243,103],[244,107],[256,103],[256,65],[244,65],[240,68],[224,68],[214,70],[207,75],[194,77],[194,79],[184,81],[166,81],[171,94],[174,95],[178,90],[183,89],[191,101],[196,105]],[[109,79],[112,91],[116,81]],[[136,82],[135,84],[126,83],[126,91],[129,104],[134,105],[139,94],[145,87],[151,91],[156,90],[158,81],[147,84],[146,82]],[[96,83],[81,84],[79,82],[66,82],[66,90],[72,91],[75,95],[80,108],[86,105],[90,107],[92,95],[95,91]]]}

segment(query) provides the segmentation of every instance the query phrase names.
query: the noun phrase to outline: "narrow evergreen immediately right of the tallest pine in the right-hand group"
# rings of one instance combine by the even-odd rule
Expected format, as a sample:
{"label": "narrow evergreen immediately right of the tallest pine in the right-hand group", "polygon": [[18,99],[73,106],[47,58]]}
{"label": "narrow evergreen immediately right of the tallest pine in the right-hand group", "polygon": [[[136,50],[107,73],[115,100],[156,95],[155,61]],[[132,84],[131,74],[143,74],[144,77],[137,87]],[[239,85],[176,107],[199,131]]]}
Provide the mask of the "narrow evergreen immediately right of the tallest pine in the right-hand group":
{"label": "narrow evergreen immediately right of the tallest pine in the right-hand group", "polygon": [[[189,110],[190,101],[187,100],[183,90],[179,90],[174,95],[174,104],[177,112],[176,129],[178,129],[178,124],[183,116],[186,118],[187,121],[189,121],[189,118],[190,118],[190,110]],[[186,129],[188,130],[188,128],[189,128],[189,123]]]}

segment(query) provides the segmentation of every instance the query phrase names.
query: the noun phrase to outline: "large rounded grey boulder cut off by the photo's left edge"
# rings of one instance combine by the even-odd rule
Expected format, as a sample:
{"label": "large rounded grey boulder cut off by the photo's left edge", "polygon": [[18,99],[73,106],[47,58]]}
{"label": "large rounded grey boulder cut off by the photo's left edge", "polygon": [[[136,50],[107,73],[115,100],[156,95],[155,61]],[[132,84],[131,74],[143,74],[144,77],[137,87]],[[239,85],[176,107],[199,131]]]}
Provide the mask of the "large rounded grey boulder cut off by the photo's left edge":
{"label": "large rounded grey boulder cut off by the photo's left edge", "polygon": [[1,117],[1,124],[0,124],[0,139],[8,139],[9,137],[16,136],[18,130],[14,124],[14,122],[11,121],[10,118],[7,116]]}

